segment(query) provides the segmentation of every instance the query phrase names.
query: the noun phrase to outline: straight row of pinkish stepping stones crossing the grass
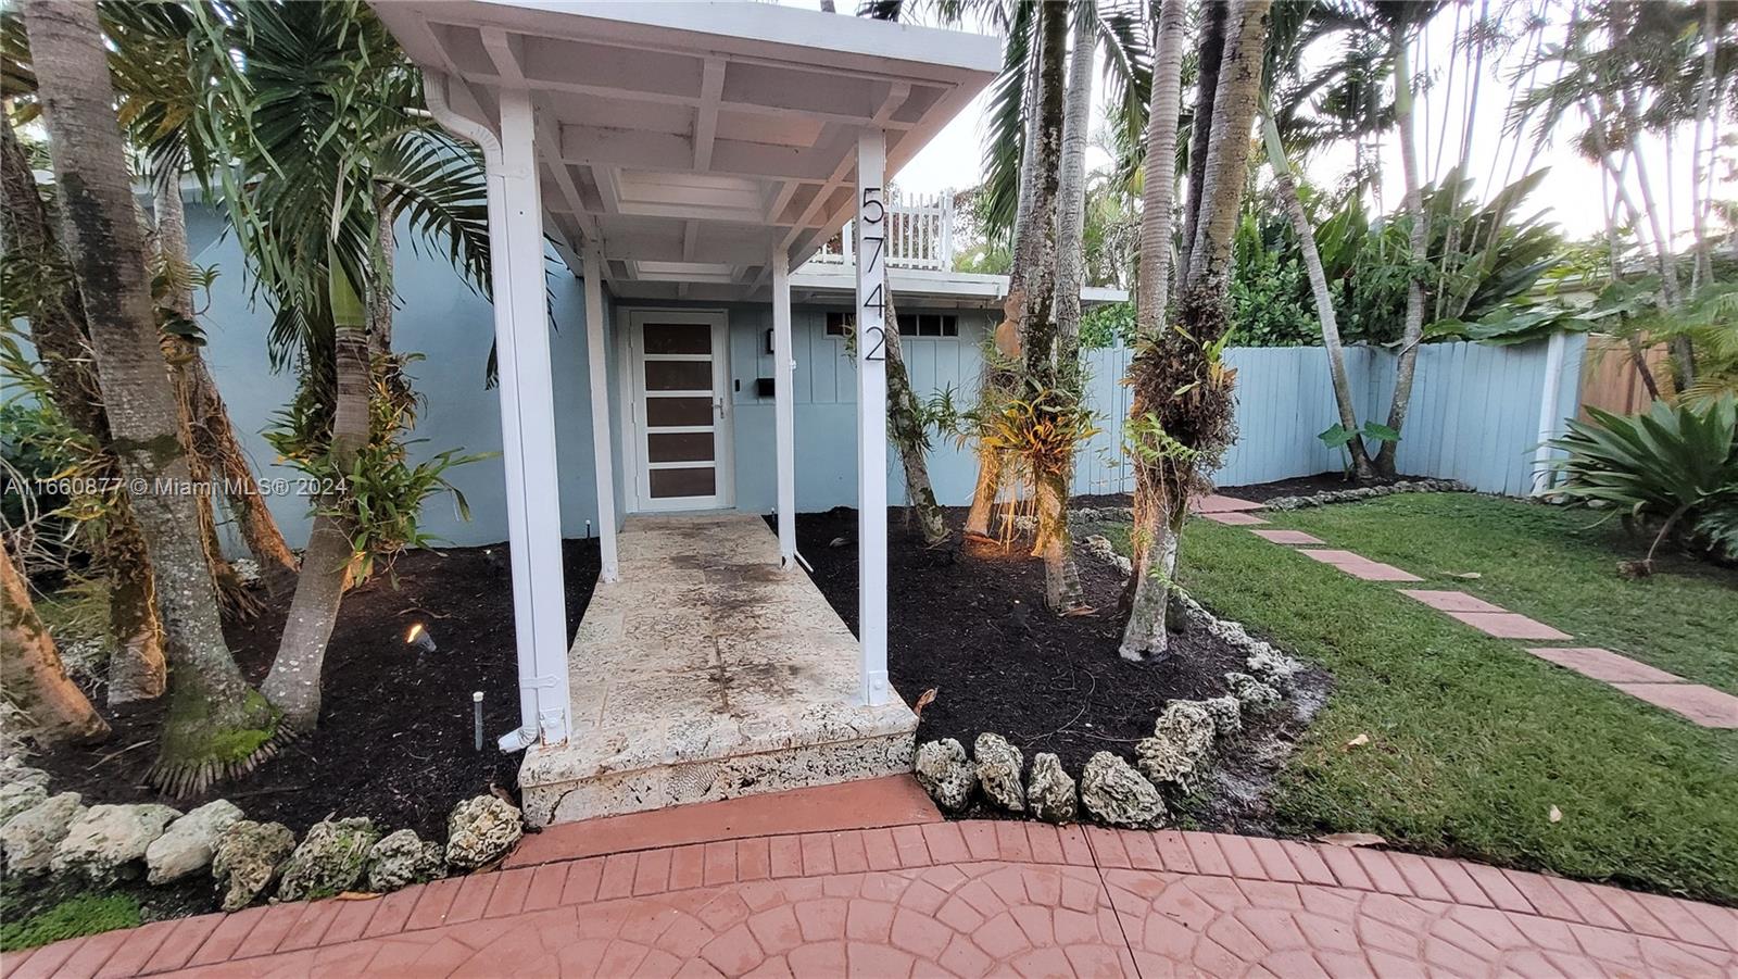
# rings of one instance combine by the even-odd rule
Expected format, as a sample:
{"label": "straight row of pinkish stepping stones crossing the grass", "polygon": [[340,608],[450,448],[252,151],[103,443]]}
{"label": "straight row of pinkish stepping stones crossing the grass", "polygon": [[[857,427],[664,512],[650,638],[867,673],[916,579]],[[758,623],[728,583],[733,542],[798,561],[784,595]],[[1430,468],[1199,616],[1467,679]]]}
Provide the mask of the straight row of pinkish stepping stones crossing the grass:
{"label": "straight row of pinkish stepping stones crossing the grass", "polygon": [[[1251,534],[1262,537],[1264,541],[1290,546],[1297,549],[1297,553],[1335,567],[1352,577],[1392,583],[1423,581],[1416,574],[1404,569],[1373,562],[1352,551],[1328,548],[1324,546],[1326,541],[1302,530],[1258,529],[1258,525],[1267,523],[1267,520],[1250,513],[1250,509],[1258,504],[1234,497],[1208,499],[1213,499],[1215,504],[1199,511],[1199,515],[1206,520],[1232,527],[1248,527]],[[1562,629],[1517,612],[1510,612],[1502,605],[1493,605],[1483,598],[1467,595],[1465,591],[1439,591],[1427,588],[1401,588],[1399,591],[1401,595],[1422,602],[1488,636],[1557,643],[1569,643],[1575,638]],[[1533,645],[1526,647],[1526,652],[1547,663],[1556,663],[1557,666],[1573,669],[1592,680],[1609,683],[1618,690],[1648,701],[1658,708],[1675,711],[1702,727],[1738,729],[1738,697],[1724,690],[1715,690],[1705,683],[1691,683],[1682,676],[1655,669],[1653,666],[1637,663],[1608,649]]]}

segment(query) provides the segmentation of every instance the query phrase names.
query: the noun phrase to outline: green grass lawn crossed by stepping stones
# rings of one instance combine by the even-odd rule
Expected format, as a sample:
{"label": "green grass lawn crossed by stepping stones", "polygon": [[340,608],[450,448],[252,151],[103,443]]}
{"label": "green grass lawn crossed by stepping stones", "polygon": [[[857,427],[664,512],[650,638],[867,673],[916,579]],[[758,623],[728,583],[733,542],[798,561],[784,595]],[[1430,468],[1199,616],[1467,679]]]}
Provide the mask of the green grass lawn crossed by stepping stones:
{"label": "green grass lawn crossed by stepping stones", "polygon": [[[1462,494],[1277,513],[1686,678],[1731,689],[1729,572],[1616,574],[1585,513]],[[1453,574],[1477,572],[1479,579]],[[1194,520],[1178,577],[1324,666],[1328,704],[1276,789],[1281,829],[1738,904],[1738,732],[1700,729],[1239,527]],[[1368,744],[1347,743],[1366,734]],[[1550,821],[1552,807],[1561,812]]]}

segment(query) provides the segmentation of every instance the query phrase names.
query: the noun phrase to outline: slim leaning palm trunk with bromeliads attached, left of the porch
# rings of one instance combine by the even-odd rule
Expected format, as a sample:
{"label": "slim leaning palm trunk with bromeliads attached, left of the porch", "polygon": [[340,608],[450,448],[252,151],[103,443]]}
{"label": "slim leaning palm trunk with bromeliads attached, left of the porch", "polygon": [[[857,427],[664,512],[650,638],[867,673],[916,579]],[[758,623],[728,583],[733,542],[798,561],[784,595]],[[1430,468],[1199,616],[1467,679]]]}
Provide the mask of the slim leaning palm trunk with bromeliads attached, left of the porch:
{"label": "slim leaning palm trunk with bromeliads attached, left of the porch", "polygon": [[[334,337],[334,410],[330,457],[339,473],[348,473],[358,452],[368,443],[368,330],[362,299],[344,271],[332,263]],[[295,596],[278,640],[271,673],[261,683],[283,720],[295,730],[311,730],[320,722],[320,675],[327,643],[337,624],[355,548],[349,523],[328,513],[339,499],[322,501],[302,553],[302,572],[295,579]]]}

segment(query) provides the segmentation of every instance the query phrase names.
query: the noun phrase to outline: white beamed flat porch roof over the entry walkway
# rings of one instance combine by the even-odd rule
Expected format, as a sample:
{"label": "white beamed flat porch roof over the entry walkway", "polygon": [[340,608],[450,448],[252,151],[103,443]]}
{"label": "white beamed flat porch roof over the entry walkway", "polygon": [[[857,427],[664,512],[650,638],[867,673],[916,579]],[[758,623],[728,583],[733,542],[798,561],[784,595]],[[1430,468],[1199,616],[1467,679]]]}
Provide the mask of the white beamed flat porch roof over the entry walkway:
{"label": "white beamed flat porch roof over the entry walkway", "polygon": [[994,37],[770,3],[375,9],[462,115],[499,132],[501,90],[530,90],[544,226],[622,297],[753,297],[850,217],[860,130],[892,177],[1001,64]]}

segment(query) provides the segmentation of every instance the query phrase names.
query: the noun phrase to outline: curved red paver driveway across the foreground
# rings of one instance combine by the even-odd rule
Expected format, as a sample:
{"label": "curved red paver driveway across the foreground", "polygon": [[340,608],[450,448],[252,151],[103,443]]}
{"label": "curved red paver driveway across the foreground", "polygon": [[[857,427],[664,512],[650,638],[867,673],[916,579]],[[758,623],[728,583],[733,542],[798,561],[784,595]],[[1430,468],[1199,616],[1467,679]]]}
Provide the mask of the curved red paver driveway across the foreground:
{"label": "curved red paver driveway across the foreground", "polygon": [[[909,786],[883,783],[905,805]],[[845,802],[864,802],[872,786],[834,805],[812,795],[799,809],[860,822],[864,810]],[[379,899],[160,922],[7,955],[0,972],[1154,979],[1738,970],[1738,911],[1693,901],[1370,849],[940,822],[933,810],[899,826],[763,833],[777,798],[690,807],[704,814],[693,826],[735,826],[723,838],[549,859]],[[761,809],[732,816],[739,802]],[[634,833],[615,822],[607,836]],[[546,845],[541,856],[556,850]]]}

